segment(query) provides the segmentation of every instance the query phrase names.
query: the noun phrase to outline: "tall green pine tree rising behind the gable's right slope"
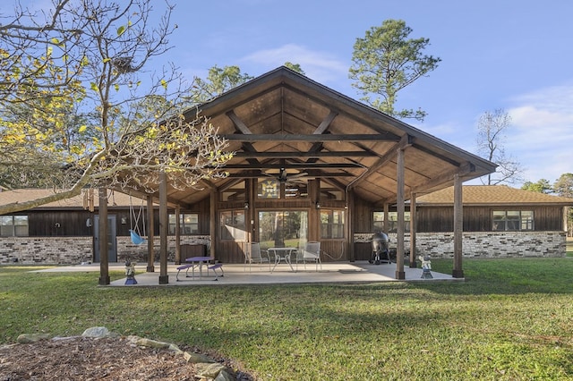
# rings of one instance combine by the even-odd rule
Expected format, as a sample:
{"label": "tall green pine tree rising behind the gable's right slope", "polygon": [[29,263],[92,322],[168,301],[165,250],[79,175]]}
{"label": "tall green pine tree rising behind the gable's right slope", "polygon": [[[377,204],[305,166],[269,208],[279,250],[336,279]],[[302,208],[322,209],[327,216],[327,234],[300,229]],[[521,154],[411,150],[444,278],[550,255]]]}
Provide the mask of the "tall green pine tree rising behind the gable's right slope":
{"label": "tall green pine tree rising behind the gable's right slope", "polygon": [[421,109],[394,108],[398,91],[435,70],[441,61],[423,54],[430,45],[428,38],[408,38],[410,33],[402,20],[386,20],[367,30],[364,38],[356,39],[349,78],[368,105],[390,116],[423,121],[426,113]]}

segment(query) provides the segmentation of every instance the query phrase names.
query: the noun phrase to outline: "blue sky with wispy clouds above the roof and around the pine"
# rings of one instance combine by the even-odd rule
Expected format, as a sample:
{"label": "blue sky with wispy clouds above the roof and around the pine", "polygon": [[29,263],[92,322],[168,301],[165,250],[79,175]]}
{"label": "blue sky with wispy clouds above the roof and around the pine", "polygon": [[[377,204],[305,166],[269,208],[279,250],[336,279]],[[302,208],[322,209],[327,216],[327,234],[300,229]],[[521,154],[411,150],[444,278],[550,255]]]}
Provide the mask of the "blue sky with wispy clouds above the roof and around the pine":
{"label": "blue sky with wispy clouds above the roof and around the pine", "polygon": [[190,79],[213,65],[258,76],[299,63],[312,80],[358,99],[348,79],[355,39],[402,19],[442,60],[398,94],[398,106],[428,113],[406,123],[475,153],[479,116],[505,109],[507,153],[526,181],[552,183],[573,172],[571,15],[569,0],[179,1],[167,58]]}

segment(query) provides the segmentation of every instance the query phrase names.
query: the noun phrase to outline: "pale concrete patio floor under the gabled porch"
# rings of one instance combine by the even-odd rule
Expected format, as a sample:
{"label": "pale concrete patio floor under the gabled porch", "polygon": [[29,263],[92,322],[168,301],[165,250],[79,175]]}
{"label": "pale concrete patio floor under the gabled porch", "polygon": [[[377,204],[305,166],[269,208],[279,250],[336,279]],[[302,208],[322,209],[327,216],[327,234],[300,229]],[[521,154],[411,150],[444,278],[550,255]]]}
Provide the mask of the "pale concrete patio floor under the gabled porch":
{"label": "pale concrete patio floor under the gabled porch", "polygon": [[[274,265],[273,265],[274,266]],[[356,284],[356,283],[379,283],[379,282],[435,282],[435,281],[464,281],[464,278],[453,278],[451,275],[436,273],[432,271],[432,279],[422,278],[421,268],[410,268],[405,266],[405,280],[396,279],[396,264],[372,265],[368,261],[358,262],[329,262],[323,263],[322,268],[316,271],[314,264],[299,264],[293,272],[287,264],[279,264],[274,271],[269,271],[269,265],[248,265],[243,264],[225,264],[223,270],[224,276],[219,276],[217,282],[214,282],[215,275],[212,270],[209,275],[203,268],[203,276],[200,277],[198,270],[195,270],[195,277],[192,278],[192,272],[189,271],[189,277],[185,276],[185,270],[179,274],[179,281],[176,279],[177,270],[174,263],[167,265],[167,275],[169,283],[161,284],[163,286],[189,286],[198,284],[224,285],[224,284]],[[124,271],[124,264],[109,264],[109,271]],[[135,266],[135,280],[137,284],[125,285],[125,278],[111,282],[110,286],[150,286],[159,285],[159,265],[155,264],[155,272],[146,272],[147,264]],[[99,272],[99,264],[77,265],[70,267],[54,267],[44,272],[62,272],[62,271],[94,271]],[[219,271],[220,274],[220,271]]]}

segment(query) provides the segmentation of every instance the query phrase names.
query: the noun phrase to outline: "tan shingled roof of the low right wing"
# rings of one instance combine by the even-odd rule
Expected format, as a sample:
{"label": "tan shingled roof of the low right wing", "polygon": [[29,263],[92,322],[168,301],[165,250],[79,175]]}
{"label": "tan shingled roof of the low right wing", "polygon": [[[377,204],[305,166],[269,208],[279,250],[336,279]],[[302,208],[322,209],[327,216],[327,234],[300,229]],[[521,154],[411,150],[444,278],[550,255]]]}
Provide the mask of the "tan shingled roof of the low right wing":
{"label": "tan shingled roof of the low right wing", "polygon": [[[519,190],[507,185],[464,185],[462,187],[464,206],[500,205],[500,206],[573,206],[573,199],[531,190]],[[416,198],[418,206],[452,206],[454,188],[449,187]]]}

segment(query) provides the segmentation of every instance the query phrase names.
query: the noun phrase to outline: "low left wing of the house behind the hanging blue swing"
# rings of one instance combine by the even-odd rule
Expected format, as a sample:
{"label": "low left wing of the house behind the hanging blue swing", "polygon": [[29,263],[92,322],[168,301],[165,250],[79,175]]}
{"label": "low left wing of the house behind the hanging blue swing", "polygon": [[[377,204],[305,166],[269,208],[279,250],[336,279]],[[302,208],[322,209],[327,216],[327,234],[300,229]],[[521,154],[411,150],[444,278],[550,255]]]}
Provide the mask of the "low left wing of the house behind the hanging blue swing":
{"label": "low left wing of the house behind the hanging blue swing", "polygon": [[[21,189],[4,190],[0,203],[40,199],[53,194],[54,190]],[[146,238],[149,221],[146,220],[148,205],[117,191],[108,191],[109,260],[124,262],[127,259],[145,262],[150,248],[147,244],[134,243],[130,230]],[[79,264],[99,261],[98,252],[98,198],[93,190],[85,190],[80,196],[50,202],[40,207],[0,216],[0,264]],[[158,205],[153,204],[153,228],[159,228]],[[189,256],[207,251],[209,235],[201,232],[197,219],[182,216],[180,229],[184,239],[180,244],[192,250]],[[168,216],[170,233],[170,258],[175,255],[175,215]],[[208,233],[208,232],[207,232]],[[197,247],[194,247],[197,246]],[[204,246],[204,247],[201,247]],[[154,243],[154,256],[158,254],[158,242]]]}

